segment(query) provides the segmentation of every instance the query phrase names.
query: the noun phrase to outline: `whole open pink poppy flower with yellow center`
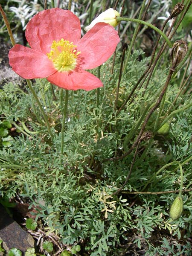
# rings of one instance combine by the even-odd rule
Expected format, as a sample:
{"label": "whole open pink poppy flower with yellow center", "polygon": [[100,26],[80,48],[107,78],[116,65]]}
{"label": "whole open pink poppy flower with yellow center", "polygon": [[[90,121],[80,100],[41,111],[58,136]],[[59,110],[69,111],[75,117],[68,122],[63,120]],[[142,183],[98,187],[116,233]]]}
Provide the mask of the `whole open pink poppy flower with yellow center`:
{"label": "whole open pink poppy flower with yellow center", "polygon": [[81,38],[79,18],[59,8],[35,15],[26,26],[26,39],[31,48],[16,44],[9,51],[12,69],[25,79],[46,78],[67,90],[102,87],[85,70],[107,61],[120,41],[106,23],[97,23]]}

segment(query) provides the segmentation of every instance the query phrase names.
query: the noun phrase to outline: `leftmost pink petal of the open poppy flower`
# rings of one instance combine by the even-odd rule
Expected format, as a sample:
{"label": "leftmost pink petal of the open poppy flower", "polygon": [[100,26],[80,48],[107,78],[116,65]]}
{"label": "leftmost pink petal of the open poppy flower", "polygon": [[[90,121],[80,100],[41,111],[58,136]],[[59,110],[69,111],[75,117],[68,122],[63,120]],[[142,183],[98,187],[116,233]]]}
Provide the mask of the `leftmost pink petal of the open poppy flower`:
{"label": "leftmost pink petal of the open poppy flower", "polygon": [[20,44],[10,49],[9,64],[25,79],[45,78],[56,72],[47,55]]}

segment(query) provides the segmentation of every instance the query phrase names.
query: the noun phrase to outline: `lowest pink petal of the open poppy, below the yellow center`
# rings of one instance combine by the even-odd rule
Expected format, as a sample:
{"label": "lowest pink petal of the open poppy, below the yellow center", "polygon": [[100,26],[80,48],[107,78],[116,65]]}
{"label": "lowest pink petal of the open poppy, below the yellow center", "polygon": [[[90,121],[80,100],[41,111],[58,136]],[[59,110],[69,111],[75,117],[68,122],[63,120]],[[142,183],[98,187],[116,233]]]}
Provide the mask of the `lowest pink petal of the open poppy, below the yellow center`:
{"label": "lowest pink petal of the open poppy, below the yellow center", "polygon": [[67,90],[93,90],[102,87],[99,78],[85,70],[68,72],[56,72],[47,78],[49,82]]}

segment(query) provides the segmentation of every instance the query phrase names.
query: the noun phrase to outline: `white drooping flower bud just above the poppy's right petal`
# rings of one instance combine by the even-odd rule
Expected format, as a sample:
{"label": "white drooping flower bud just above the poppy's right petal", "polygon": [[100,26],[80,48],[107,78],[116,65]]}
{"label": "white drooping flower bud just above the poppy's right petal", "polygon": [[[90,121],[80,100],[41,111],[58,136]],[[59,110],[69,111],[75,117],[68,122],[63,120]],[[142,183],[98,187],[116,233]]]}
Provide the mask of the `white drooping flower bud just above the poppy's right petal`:
{"label": "white drooping flower bud just above the poppy's right petal", "polygon": [[102,12],[98,17],[96,17],[96,19],[94,19],[89,26],[86,26],[84,30],[89,31],[90,29],[93,28],[93,26],[95,26],[96,23],[99,23],[99,22],[105,22],[110,24],[113,27],[116,27],[118,24],[118,22],[116,21],[117,16],[120,16],[119,12],[110,8],[105,12]]}

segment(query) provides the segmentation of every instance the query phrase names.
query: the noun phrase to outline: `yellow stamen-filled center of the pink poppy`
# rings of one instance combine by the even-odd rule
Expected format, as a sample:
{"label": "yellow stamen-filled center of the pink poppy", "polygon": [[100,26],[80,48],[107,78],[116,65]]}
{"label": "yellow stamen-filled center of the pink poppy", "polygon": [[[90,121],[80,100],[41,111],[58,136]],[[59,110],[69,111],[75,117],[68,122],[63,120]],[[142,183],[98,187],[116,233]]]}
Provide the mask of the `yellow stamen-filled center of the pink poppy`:
{"label": "yellow stamen-filled center of the pink poppy", "polygon": [[58,72],[74,70],[77,64],[77,56],[80,52],[75,49],[76,45],[73,42],[64,40],[53,41],[51,51],[47,53],[49,60],[54,64]]}

